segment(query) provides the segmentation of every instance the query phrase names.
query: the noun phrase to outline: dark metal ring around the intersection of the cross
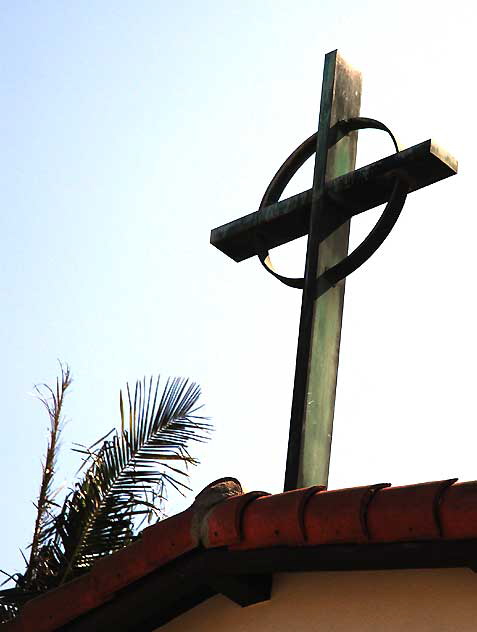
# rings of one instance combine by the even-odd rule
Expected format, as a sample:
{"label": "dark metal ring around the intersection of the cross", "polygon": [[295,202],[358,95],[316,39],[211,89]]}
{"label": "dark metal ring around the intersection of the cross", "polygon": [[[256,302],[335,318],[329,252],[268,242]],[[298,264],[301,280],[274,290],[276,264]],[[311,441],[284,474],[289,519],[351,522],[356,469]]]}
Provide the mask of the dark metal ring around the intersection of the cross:
{"label": "dark metal ring around the intersection of the cross", "polygon": [[[396,152],[399,151],[398,144],[391,130],[386,127],[380,121],[375,119],[356,117],[348,120],[338,121],[330,129],[330,141],[329,147],[332,147],[341,138],[349,134],[350,132],[359,129],[380,129],[387,132],[394,144]],[[317,135],[319,132],[315,132],[312,136],[307,138],[295,151],[285,160],[283,165],[277,171],[272,181],[268,185],[265,195],[260,203],[259,210],[262,210],[266,206],[275,204],[279,201],[285,187],[290,182],[292,177],[298,171],[298,169],[316,152]],[[383,241],[391,232],[394,224],[396,223],[401,210],[406,201],[406,196],[409,190],[409,182],[404,172],[395,172],[396,181],[389,198],[386,207],[374,226],[369,235],[357,246],[353,252],[348,254],[342,261],[336,265],[328,268],[323,272],[316,282],[316,296],[321,296],[331,287],[334,287],[339,281],[346,276],[357,270],[365,261],[367,261],[381,246]],[[260,263],[265,270],[272,274],[276,279],[288,285],[289,287],[295,287],[303,289],[304,279],[286,277],[275,272],[272,267],[270,255],[268,252],[267,244],[259,233],[255,235],[256,251]]]}

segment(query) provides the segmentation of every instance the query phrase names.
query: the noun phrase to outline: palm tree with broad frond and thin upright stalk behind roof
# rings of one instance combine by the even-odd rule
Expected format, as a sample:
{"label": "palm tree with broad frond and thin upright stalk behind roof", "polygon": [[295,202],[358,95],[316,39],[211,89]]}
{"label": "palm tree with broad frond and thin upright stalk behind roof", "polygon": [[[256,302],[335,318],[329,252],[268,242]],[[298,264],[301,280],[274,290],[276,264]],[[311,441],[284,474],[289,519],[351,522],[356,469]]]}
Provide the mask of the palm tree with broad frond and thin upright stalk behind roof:
{"label": "palm tree with broad frond and thin upright stalk behind roof", "polygon": [[[81,478],[61,504],[53,490],[65,393],[71,385],[61,367],[56,388],[37,388],[49,419],[37,515],[23,574],[8,575],[15,586],[0,591],[0,623],[14,618],[26,601],[88,571],[100,558],[132,542],[144,520],[164,516],[167,489],[187,486],[191,442],[211,428],[198,415],[200,388],[185,378],[136,382],[120,392],[121,429],[95,444],[78,446]],[[126,402],[126,404],[125,404]],[[126,412],[125,412],[126,409]],[[3,572],[3,571],[2,571]]]}

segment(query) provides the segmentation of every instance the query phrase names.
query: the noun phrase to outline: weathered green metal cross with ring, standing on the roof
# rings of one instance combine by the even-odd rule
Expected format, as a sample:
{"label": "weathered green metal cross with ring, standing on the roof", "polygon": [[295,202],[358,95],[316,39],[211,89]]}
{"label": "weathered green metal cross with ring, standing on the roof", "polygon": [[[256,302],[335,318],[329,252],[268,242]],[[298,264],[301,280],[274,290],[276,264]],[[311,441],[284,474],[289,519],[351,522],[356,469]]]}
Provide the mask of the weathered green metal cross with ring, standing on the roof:
{"label": "weathered green metal cross with ring, standing on the roof", "polygon": [[[337,51],[325,56],[318,132],[285,161],[254,213],[215,228],[211,243],[235,261],[258,255],[280,281],[300,288],[302,305],[288,441],[285,491],[327,485],[345,277],[381,245],[406,195],[457,173],[457,161],[431,140],[398,151],[389,129],[359,118],[361,75]],[[354,170],[357,131],[388,132],[396,153]],[[279,201],[314,152],[313,187]],[[388,202],[378,223],[348,254],[350,219]],[[277,274],[268,250],[308,234],[303,279]]]}

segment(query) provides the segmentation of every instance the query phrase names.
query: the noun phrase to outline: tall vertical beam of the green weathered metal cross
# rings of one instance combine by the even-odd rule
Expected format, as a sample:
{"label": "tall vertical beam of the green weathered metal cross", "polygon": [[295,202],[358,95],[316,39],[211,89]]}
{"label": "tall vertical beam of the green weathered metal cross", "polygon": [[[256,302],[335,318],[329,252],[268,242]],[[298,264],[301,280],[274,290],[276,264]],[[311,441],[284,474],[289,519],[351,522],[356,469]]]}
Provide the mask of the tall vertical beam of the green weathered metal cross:
{"label": "tall vertical beam of the green weathered metal cross", "polygon": [[361,74],[337,51],[325,57],[319,133],[313,178],[295,382],[288,442],[285,491],[327,485],[338,373],[344,281],[315,299],[317,276],[348,252],[349,220],[320,243],[325,183],[352,171],[357,133],[329,148],[329,129],[359,116]]}

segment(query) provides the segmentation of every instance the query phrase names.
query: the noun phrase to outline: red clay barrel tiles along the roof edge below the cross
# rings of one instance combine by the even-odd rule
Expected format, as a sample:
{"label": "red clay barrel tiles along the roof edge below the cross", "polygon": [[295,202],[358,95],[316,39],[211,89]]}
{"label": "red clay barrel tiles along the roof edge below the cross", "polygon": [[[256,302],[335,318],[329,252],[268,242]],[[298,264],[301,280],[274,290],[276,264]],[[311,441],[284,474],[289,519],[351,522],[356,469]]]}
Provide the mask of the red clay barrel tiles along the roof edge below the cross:
{"label": "red clay barrel tiles along the roof edge below the cross", "polygon": [[[228,481],[228,482],[227,482]],[[477,539],[477,482],[456,479],[391,487],[282,494],[241,493],[212,483],[186,511],[142,532],[85,575],[29,601],[5,632],[51,632],[109,601],[120,589],[197,550],[251,551]]]}

